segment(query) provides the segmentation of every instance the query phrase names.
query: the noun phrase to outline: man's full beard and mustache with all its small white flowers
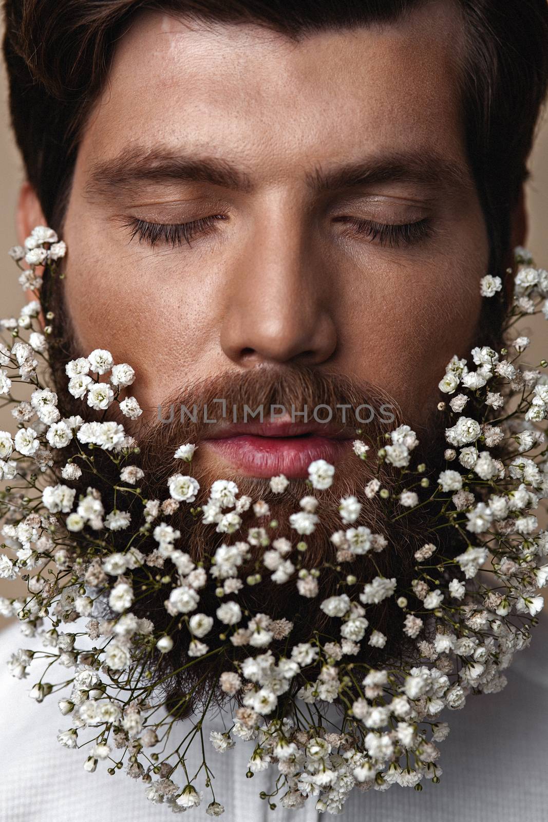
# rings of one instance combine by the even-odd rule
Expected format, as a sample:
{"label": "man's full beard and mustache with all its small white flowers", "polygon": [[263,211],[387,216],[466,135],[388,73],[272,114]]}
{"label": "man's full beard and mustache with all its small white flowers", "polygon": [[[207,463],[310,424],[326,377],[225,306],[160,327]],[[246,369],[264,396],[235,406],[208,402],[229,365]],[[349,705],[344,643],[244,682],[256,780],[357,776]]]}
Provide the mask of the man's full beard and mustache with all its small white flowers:
{"label": "man's full beard and mustache with all its small white flowers", "polygon": [[[394,403],[383,418],[389,398],[340,375],[284,367],[187,386],[164,409],[219,397],[231,409],[375,409],[361,427],[334,416],[353,437],[340,475],[315,460],[307,480],[217,478],[200,464],[205,423],[140,424],[131,366],[75,350],[65,250],[43,228],[12,250],[37,299],[2,321],[11,339],[0,349],[18,423],[15,436],[0,432],[0,574],[28,587],[4,611],[44,643],[10,667],[21,678],[45,667],[31,695],[57,695],[70,722],[58,741],[87,746],[87,770],[115,773],[126,757],[172,810],[209,792],[210,815],[223,812],[201,721],[214,705],[229,717],[211,732],[217,751],[253,743],[242,778],[279,774],[270,806],[278,796],[338,813],[354,787],[439,781],[440,712],[504,686],[541,609],[546,362],[524,364],[525,338],[454,357],[421,430],[427,452]],[[546,271],[523,250],[517,262],[507,329],[548,293]],[[488,311],[501,287],[482,279]],[[16,401],[18,381],[30,402]],[[169,745],[181,718],[202,746],[196,772]]]}

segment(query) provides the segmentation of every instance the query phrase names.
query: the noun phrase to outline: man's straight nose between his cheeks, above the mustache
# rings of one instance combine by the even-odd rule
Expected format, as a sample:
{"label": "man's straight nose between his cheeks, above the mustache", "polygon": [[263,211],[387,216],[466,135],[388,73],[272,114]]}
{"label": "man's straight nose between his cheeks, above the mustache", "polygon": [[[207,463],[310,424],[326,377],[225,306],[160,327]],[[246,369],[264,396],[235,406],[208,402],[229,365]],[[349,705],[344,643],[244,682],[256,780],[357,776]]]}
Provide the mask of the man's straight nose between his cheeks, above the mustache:
{"label": "man's straight nose between his cheeks, above the mustache", "polygon": [[239,367],[325,363],[337,347],[329,272],[291,210],[260,220],[234,266],[220,344]]}

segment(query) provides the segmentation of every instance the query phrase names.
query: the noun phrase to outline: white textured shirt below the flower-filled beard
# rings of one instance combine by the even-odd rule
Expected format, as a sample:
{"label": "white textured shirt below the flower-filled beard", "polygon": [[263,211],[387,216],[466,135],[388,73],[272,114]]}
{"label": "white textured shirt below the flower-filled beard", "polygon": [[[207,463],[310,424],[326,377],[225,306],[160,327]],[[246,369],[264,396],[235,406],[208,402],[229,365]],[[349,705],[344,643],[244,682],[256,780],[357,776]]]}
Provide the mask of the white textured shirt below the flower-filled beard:
{"label": "white textured shirt below the flower-filled beard", "polygon": [[[500,694],[471,696],[461,711],[448,712],[449,737],[440,743],[444,770],[439,785],[423,781],[423,791],[397,785],[385,792],[354,790],[343,810],[345,822],[546,822],[548,818],[548,621],[533,631],[532,646],[516,655],[508,686]],[[67,750],[56,736],[69,727],[58,712],[55,695],[44,703],[30,700],[32,679],[14,679],[5,660],[19,647],[30,647],[18,626],[0,634],[0,820],[2,822],[156,822],[172,811],[145,797],[145,784],[123,770],[107,774],[99,762],[94,774],[82,767],[85,749]],[[184,723],[183,723],[184,724]],[[219,719],[206,728],[223,730]],[[207,742],[206,744],[210,744]],[[269,810],[259,792],[275,774],[247,779],[253,743],[237,741],[217,754],[216,798],[225,806],[224,822],[312,822],[319,820],[315,800],[300,810],[279,804]],[[196,755],[195,755],[195,761]],[[199,763],[198,763],[199,764]],[[197,764],[195,769],[197,768]],[[177,781],[177,779],[176,779]],[[181,780],[178,780],[181,784]],[[205,822],[205,799],[189,811],[190,822]],[[327,819],[322,815],[323,819]]]}

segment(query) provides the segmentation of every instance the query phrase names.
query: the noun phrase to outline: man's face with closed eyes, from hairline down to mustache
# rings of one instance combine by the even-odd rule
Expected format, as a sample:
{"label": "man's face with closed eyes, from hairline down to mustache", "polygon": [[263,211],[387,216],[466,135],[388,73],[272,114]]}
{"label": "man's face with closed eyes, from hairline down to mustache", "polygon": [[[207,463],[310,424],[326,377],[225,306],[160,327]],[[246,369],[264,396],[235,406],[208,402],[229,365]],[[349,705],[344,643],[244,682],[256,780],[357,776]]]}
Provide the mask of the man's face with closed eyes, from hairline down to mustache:
{"label": "man's face with closed eyes, from hairline down to mustache", "polygon": [[[67,209],[80,353],[131,363],[150,419],[195,381],[306,366],[378,386],[420,432],[475,341],[488,264],[462,39],[445,2],[299,43],[137,18]],[[211,444],[200,459],[250,473]]]}

